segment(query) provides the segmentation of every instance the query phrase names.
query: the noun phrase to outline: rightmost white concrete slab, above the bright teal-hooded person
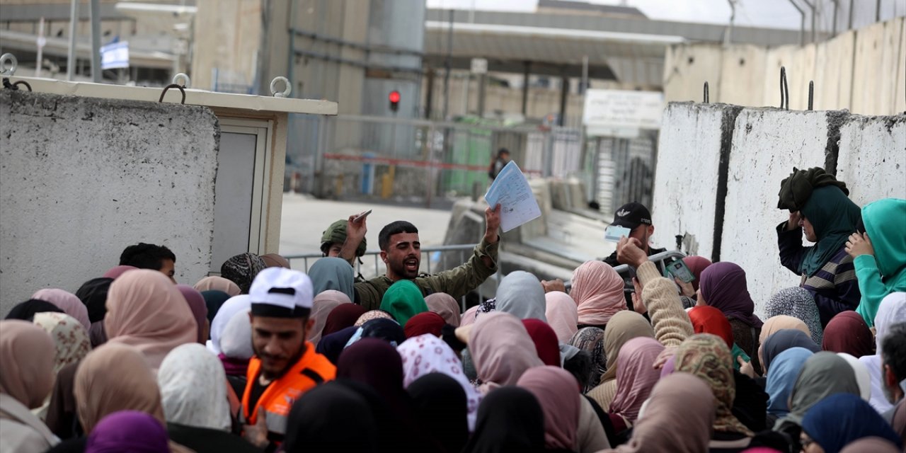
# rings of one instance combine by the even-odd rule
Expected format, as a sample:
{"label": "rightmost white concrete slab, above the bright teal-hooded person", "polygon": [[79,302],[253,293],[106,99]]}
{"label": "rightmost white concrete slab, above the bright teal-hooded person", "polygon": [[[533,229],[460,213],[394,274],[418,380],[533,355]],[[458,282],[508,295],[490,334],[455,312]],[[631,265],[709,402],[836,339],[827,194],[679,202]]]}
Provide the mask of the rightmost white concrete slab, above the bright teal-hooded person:
{"label": "rightmost white concrete slab, above the bright teal-hooded person", "polygon": [[840,127],[837,178],[859,206],[906,198],[906,114],[849,116]]}

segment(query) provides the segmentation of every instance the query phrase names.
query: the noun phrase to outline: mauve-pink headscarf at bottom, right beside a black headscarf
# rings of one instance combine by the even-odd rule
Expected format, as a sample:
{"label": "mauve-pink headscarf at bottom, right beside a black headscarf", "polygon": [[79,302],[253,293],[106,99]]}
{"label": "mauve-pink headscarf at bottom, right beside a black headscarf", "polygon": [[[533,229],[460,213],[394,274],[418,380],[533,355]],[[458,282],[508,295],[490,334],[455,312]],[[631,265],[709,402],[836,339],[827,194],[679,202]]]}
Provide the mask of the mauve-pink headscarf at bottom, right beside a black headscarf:
{"label": "mauve-pink headscarf at bottom, right beside a black headscarf", "polygon": [[579,382],[569,371],[544,366],[525,371],[516,385],[532,392],[545,412],[545,448],[576,450]]}

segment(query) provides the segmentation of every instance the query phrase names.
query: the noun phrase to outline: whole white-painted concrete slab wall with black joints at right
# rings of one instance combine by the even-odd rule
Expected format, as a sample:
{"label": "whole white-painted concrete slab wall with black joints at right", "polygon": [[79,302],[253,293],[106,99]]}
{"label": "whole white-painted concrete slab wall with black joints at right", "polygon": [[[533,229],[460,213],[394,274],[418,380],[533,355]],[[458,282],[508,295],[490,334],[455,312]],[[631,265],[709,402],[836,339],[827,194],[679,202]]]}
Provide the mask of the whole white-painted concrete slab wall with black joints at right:
{"label": "whole white-painted concrete slab wall with black joints at right", "polygon": [[744,109],[671,102],[664,113],[655,177],[654,243],[687,236],[689,251],[747,271],[757,312],[799,277],[781,267],[775,226],[780,181],[793,167],[822,167],[859,206],[906,198],[906,114]]}

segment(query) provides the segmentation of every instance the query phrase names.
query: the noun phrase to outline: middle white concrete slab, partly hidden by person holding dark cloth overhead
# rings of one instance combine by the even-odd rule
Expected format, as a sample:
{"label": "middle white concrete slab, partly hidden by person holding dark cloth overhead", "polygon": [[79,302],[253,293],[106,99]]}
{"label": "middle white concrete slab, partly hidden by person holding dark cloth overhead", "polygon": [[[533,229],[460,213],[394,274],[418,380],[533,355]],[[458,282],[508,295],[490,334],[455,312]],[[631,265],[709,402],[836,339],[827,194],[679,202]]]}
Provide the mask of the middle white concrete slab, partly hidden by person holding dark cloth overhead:
{"label": "middle white concrete slab, partly hidden by person holding dark cloth overhead", "polygon": [[827,137],[824,111],[744,109],[737,116],[720,260],[746,269],[758,309],[777,290],[799,284],[777,253],[775,226],[788,217],[777,209],[777,192],[793,167],[824,167]]}

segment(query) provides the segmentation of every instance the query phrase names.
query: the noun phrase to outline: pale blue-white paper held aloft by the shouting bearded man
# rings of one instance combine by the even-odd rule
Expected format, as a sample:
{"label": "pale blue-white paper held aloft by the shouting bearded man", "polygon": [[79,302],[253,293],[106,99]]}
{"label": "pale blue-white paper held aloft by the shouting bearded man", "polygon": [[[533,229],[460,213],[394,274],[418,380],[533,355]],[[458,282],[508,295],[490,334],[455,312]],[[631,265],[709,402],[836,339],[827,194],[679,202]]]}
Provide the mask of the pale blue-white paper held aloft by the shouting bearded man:
{"label": "pale blue-white paper held aloft by the shouting bearded man", "polygon": [[510,160],[485,194],[492,208],[500,204],[500,228],[507,231],[541,217],[541,208],[528,180],[516,162]]}

